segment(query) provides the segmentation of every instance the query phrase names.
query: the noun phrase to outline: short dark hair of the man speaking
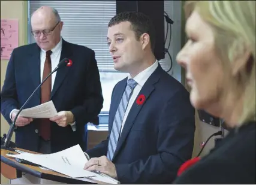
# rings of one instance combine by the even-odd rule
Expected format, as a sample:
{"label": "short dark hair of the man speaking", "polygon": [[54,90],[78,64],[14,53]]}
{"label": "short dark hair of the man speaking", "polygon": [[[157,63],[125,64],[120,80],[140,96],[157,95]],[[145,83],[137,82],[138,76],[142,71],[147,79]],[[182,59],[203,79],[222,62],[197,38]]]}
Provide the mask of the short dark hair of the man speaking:
{"label": "short dark hair of the man speaking", "polygon": [[131,30],[135,32],[135,37],[137,40],[144,33],[148,34],[150,37],[151,50],[154,51],[155,48],[155,27],[152,20],[149,19],[143,13],[136,11],[124,11],[117,14],[109,22],[109,27],[118,25],[121,22],[128,21],[131,23]]}

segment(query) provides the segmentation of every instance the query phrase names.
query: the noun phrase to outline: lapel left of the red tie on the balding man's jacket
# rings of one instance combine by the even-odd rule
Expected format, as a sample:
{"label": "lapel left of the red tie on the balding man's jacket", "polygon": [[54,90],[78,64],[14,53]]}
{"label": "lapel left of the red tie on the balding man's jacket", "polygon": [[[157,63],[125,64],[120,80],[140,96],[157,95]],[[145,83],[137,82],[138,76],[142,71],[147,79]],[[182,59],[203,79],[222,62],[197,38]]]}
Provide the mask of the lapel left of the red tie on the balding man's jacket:
{"label": "lapel left of the red tie on the balding man's jacket", "polygon": [[[34,47],[31,50],[31,54],[28,58],[28,68],[29,68],[28,71],[31,75],[31,80],[32,80],[35,88],[37,88],[37,86],[39,86],[39,84],[41,82],[41,79],[40,79],[40,47],[38,47],[37,44],[34,44]],[[41,89],[39,88],[36,93],[40,98]]]}

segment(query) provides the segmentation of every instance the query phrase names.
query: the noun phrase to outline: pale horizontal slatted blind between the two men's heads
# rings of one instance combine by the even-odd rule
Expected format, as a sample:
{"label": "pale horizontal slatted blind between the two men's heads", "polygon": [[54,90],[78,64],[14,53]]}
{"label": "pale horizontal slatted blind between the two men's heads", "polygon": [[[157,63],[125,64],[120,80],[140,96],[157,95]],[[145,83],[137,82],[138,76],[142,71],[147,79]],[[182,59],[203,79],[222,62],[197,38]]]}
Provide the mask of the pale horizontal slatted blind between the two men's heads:
{"label": "pale horizontal slatted blind between the two men's heads", "polygon": [[[29,1],[29,17],[43,5],[58,10],[64,22],[64,40],[94,50],[100,71],[115,71],[106,38],[109,20],[116,14],[116,1]],[[30,41],[35,42],[32,35]]]}

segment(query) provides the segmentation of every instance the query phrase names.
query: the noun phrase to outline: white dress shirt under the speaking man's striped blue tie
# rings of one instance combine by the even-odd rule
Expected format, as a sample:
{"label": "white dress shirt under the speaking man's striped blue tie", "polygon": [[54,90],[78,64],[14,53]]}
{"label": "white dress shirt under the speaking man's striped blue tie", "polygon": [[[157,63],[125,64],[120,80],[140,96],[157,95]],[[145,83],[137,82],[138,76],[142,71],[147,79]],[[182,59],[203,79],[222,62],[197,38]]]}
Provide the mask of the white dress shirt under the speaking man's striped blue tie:
{"label": "white dress shirt under the speaking man's striped blue tie", "polygon": [[[144,69],[144,71],[141,71],[139,74],[137,74],[133,79],[138,83],[137,86],[132,91],[131,98],[129,99],[128,105],[127,105],[127,110],[125,111],[125,116],[122,122],[122,127],[121,127],[121,133],[125,125],[125,121],[127,120],[127,116],[129,114],[129,111],[131,110],[132,104],[134,103],[135,99],[138,96],[138,93],[140,93],[141,88],[143,87],[144,83],[146,83],[147,79],[152,75],[152,73],[155,71],[155,69],[158,67],[158,62],[157,60],[155,63],[153,63],[151,66],[148,68]],[[128,75],[128,79],[132,78],[131,75]]]}

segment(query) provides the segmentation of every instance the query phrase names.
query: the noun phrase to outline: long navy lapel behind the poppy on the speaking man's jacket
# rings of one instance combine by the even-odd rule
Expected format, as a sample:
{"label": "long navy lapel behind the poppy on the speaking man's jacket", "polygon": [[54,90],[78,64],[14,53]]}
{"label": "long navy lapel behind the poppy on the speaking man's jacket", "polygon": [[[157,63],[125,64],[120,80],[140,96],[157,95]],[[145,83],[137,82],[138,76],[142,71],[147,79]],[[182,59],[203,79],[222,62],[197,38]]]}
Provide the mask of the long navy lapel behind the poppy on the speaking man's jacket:
{"label": "long navy lapel behind the poppy on the speaking man's jacket", "polygon": [[[124,129],[122,130],[121,137],[119,138],[118,145],[116,146],[116,151],[113,156],[113,159],[118,154],[119,150],[122,147],[122,144],[124,143],[125,139],[127,138],[129,131],[131,130],[132,125],[134,124],[138,113],[140,113],[140,110],[143,108],[144,104],[149,99],[150,94],[155,89],[154,84],[159,80],[159,77],[161,74],[161,69],[162,68],[158,63],[158,68],[156,68],[156,70],[153,72],[153,74],[147,79],[146,83],[141,88],[134,103],[132,104],[131,110],[129,111],[129,114],[127,116],[127,120],[125,121]],[[140,96],[140,95],[144,95],[146,97],[146,99],[144,100],[142,105],[138,105],[136,103],[136,100],[137,100],[138,96]]]}

